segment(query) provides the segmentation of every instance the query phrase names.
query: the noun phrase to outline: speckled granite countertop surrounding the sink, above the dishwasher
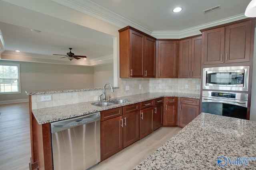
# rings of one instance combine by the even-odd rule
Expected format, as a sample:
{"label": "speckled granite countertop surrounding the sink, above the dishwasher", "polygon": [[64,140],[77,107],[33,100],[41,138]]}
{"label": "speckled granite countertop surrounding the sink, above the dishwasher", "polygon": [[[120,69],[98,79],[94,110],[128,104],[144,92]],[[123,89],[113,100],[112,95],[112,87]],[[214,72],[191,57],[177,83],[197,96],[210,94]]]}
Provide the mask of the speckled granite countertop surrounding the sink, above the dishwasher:
{"label": "speckled granite countertop surrounding the sink, above the dishwasher", "polygon": [[87,115],[87,114],[95,113],[98,111],[113,109],[116,107],[122,107],[130,104],[144,102],[147,100],[152,100],[160,97],[172,97],[172,96],[196,98],[196,99],[200,98],[199,94],[146,93],[146,94],[120,97],[119,99],[126,99],[126,100],[129,100],[130,102],[123,103],[123,104],[115,104],[112,106],[98,107],[98,106],[92,105],[92,103],[98,102],[98,101],[92,101],[92,102],[84,102],[84,103],[70,104],[70,105],[64,105],[64,106],[47,107],[43,109],[34,109],[32,110],[32,113],[34,114],[39,124],[44,124],[44,123],[64,120],[72,117]]}

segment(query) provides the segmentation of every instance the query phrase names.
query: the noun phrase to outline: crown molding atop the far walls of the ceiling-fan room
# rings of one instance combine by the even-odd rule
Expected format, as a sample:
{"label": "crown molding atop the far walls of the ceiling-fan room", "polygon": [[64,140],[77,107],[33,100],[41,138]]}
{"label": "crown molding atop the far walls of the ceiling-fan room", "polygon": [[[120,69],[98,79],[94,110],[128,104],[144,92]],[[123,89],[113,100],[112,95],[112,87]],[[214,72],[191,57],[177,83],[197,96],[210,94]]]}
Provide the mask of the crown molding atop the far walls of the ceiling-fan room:
{"label": "crown molding atop the far walls of the ceiling-fan room", "polygon": [[33,53],[22,53],[15,51],[4,51],[1,54],[2,60],[11,61],[24,61],[24,62],[35,62],[35,63],[51,63],[51,64],[66,64],[66,65],[82,65],[82,66],[96,66],[100,64],[113,63],[113,55],[108,55],[105,57],[99,57],[97,59],[90,60],[63,60],[59,58],[53,58],[51,55],[40,55]]}

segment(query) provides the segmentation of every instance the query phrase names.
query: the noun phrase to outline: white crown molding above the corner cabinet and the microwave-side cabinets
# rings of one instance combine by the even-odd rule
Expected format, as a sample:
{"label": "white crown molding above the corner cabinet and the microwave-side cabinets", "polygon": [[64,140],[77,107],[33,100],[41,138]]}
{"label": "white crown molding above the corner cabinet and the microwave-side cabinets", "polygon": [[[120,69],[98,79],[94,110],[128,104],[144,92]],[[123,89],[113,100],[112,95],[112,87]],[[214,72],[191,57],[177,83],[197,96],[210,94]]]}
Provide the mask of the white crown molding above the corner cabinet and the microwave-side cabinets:
{"label": "white crown molding above the corner cabinet and the microwave-side cabinets", "polygon": [[217,25],[222,25],[225,23],[242,20],[245,18],[247,18],[247,17],[244,16],[244,14],[239,14],[239,15],[232,16],[229,18],[224,18],[222,20],[217,20],[217,21],[206,23],[206,24],[198,25],[196,27],[190,27],[188,29],[183,29],[181,31],[152,31],[151,36],[156,37],[157,39],[181,39],[181,38],[190,37],[193,35],[202,34],[200,29],[214,27]]}

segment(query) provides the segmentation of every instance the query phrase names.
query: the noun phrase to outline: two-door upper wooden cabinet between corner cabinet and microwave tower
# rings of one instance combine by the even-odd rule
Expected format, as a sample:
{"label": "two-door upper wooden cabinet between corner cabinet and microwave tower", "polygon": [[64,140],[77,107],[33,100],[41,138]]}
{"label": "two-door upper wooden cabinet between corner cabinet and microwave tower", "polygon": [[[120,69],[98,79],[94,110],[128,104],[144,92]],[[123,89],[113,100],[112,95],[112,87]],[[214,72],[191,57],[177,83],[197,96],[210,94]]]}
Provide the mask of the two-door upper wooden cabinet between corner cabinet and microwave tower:
{"label": "two-door upper wooden cabinet between corner cabinet and microwave tower", "polygon": [[202,36],[180,41],[179,78],[201,78]]}

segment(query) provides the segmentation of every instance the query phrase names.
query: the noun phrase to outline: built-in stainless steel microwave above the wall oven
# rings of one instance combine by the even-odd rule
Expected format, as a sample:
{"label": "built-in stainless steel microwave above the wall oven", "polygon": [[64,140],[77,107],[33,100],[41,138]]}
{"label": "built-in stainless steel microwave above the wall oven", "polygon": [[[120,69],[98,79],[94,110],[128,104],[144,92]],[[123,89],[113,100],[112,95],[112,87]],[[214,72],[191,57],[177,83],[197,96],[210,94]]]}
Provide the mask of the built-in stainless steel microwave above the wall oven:
{"label": "built-in stainless steel microwave above the wall oven", "polygon": [[249,66],[203,68],[203,89],[248,91]]}

